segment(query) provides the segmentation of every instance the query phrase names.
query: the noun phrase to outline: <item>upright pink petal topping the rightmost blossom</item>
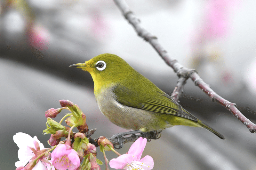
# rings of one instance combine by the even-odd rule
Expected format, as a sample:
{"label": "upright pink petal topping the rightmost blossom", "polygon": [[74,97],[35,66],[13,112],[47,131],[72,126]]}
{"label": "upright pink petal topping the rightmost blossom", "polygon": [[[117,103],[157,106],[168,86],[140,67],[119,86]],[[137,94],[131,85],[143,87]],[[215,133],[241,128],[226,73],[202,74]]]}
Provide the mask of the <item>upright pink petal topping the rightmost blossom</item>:
{"label": "upright pink petal topping the rightmost blossom", "polygon": [[144,151],[144,148],[147,144],[147,139],[146,138],[138,138],[130,147],[128,154],[132,154],[134,156],[135,161],[139,161],[140,157],[142,155],[142,152]]}

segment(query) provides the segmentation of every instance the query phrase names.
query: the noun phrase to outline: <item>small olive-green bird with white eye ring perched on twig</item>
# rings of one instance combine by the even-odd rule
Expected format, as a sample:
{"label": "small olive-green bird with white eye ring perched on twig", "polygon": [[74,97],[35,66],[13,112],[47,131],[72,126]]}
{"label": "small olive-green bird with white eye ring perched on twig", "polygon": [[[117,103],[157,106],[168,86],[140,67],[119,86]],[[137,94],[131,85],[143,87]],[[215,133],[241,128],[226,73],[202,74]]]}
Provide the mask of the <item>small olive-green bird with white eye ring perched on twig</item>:
{"label": "small olive-green bird with white eye ring perched on twig", "polygon": [[82,68],[92,75],[100,111],[117,126],[142,132],[174,125],[203,127],[225,139],[117,55],[100,54],[69,67]]}

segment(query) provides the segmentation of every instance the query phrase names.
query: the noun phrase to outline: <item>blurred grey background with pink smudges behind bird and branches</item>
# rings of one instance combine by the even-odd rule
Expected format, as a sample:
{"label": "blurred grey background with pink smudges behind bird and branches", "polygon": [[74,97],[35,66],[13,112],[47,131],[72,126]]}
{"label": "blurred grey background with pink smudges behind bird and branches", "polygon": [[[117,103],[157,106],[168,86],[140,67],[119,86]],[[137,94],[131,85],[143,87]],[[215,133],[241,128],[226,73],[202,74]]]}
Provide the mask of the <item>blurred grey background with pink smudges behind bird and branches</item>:
{"label": "blurred grey background with pink smudges behind bird and branches", "polygon": [[[236,103],[256,122],[256,1],[127,3],[170,55],[183,66],[195,68],[216,93]],[[178,80],[154,49],[137,36],[113,1],[1,1],[1,169],[13,170],[19,160],[12,138],[17,132],[36,135],[49,147],[46,141],[50,135],[42,134],[46,128],[44,112],[59,108],[60,99],[68,99],[83,110],[89,129],[97,128],[92,138],[127,131],[100,113],[90,74],[68,67],[101,53],[122,57],[167,94]],[[142,155],[153,157],[154,169],[256,169],[256,136],[228,110],[213,103],[191,80],[180,104],[226,140],[203,128],[166,129],[160,139],[147,143]],[[118,152],[126,153],[130,145]],[[97,157],[104,160],[99,149]],[[117,156],[107,152],[107,157]]]}

